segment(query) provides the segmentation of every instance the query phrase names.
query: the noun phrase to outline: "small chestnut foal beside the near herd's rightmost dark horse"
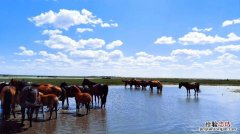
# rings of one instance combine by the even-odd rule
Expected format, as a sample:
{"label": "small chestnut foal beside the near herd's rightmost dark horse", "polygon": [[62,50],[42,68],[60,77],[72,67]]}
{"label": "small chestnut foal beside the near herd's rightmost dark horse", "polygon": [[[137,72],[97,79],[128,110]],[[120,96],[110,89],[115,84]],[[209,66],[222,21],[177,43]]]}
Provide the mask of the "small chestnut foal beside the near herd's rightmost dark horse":
{"label": "small chestnut foal beside the near herd's rightmost dark horse", "polygon": [[72,86],[73,92],[75,94],[75,101],[76,101],[76,113],[79,112],[79,105],[80,103],[84,104],[87,109],[87,113],[90,111],[90,103],[92,101],[92,97],[88,93],[82,93],[80,88],[76,85]]}

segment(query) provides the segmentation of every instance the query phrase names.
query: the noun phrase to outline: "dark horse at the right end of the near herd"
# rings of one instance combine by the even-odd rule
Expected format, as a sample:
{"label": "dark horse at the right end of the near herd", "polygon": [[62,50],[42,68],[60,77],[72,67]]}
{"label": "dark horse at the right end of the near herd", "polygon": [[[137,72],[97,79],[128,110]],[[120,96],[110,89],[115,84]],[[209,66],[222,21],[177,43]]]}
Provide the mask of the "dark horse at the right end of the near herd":
{"label": "dark horse at the right end of the near herd", "polygon": [[[82,82],[82,86],[84,87],[86,85],[89,87],[92,97],[93,95],[95,96],[95,103],[96,103],[96,97],[100,97],[101,108],[103,108],[103,106],[105,107],[107,102],[107,95],[108,95],[108,85],[97,84],[88,79],[84,79]],[[93,100],[92,100],[92,106],[93,106]]]}

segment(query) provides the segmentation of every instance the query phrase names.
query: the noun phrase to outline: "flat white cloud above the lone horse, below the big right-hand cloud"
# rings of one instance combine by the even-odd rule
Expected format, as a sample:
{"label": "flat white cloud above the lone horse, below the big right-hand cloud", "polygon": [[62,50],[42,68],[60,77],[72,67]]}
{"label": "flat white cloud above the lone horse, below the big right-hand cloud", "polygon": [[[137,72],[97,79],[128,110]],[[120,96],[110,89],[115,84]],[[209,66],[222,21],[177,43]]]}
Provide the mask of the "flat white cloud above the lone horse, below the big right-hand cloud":
{"label": "flat white cloud above the lone horse, below the big right-hand cloud", "polygon": [[201,56],[209,56],[212,54],[212,51],[207,50],[193,50],[193,49],[176,49],[171,52],[172,56],[177,55],[187,55],[188,58],[196,57],[200,58]]}

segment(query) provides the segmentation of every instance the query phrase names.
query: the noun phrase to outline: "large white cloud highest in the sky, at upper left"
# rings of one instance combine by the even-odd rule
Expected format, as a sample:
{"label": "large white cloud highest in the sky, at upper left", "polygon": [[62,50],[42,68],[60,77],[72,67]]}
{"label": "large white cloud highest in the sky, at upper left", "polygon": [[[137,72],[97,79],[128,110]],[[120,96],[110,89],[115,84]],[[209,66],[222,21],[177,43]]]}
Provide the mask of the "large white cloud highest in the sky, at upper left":
{"label": "large white cloud highest in the sky, at upper left", "polygon": [[35,17],[28,18],[29,21],[35,23],[36,26],[50,25],[55,28],[68,30],[72,26],[90,24],[100,25],[101,27],[117,27],[117,23],[106,23],[101,18],[94,16],[87,9],[67,10],[60,9],[59,12],[52,10],[41,13]]}

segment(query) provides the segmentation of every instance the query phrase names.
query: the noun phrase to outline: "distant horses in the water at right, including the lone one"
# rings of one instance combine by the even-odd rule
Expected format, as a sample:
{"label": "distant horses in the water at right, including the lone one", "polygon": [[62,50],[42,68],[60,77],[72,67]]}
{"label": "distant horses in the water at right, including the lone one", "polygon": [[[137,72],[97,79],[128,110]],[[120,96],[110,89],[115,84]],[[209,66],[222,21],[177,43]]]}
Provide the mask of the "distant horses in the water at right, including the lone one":
{"label": "distant horses in the water at right, including the lone one", "polygon": [[[153,87],[157,88],[157,93],[162,93],[163,84],[158,80],[137,80],[137,79],[129,79],[129,80],[122,80],[124,82],[125,88],[129,85],[130,88],[135,86],[135,89],[139,89],[142,86],[142,90],[146,90],[146,87],[149,86],[151,92],[153,92]],[[200,85],[197,82],[180,82],[179,89],[184,86],[187,90],[187,96],[190,95],[190,90],[193,89],[195,91],[194,95],[198,96],[200,92]]]}

